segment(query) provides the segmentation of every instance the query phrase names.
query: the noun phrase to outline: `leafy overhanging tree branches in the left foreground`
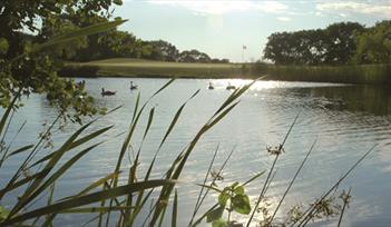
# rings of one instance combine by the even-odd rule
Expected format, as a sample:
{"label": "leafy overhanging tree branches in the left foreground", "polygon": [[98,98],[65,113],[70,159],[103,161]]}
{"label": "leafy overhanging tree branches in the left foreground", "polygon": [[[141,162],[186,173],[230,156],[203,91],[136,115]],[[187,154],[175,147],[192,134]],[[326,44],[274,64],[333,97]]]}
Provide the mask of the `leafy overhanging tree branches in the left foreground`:
{"label": "leafy overhanging tree branches in the left foreground", "polygon": [[[61,79],[56,71],[61,55],[71,55],[85,45],[79,37],[72,42],[59,43],[56,48],[37,50],[36,42],[46,42],[52,37],[75,31],[97,22],[107,21],[109,7],[120,0],[2,0],[0,1],[0,105],[8,106],[12,95],[47,93],[51,105],[63,112],[74,107],[74,119],[92,115],[97,109],[92,98],[86,95],[82,85]],[[41,21],[41,26],[37,23]],[[21,30],[37,36],[25,39]],[[72,49],[75,48],[75,49]]]}

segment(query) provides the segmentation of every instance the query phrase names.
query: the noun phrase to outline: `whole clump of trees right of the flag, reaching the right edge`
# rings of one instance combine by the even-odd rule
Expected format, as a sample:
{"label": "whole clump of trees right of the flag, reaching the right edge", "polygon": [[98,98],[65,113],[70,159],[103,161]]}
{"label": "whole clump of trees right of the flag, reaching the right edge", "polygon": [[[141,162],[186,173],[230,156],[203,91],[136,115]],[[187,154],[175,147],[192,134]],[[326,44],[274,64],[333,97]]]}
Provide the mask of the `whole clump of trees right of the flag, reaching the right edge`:
{"label": "whole clump of trees right of the flag, reaching the right edge", "polygon": [[276,65],[362,65],[391,62],[391,20],[365,28],[339,22],[325,29],[275,32],[263,58]]}

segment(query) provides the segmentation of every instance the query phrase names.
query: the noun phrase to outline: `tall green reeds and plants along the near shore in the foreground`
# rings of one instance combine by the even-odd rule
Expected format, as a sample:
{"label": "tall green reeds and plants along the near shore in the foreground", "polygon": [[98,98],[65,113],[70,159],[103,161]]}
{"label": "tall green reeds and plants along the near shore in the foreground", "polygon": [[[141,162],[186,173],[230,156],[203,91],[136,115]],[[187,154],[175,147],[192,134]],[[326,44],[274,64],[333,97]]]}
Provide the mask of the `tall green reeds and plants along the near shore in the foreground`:
{"label": "tall green reeds and plants along the near shore in the foreground", "polygon": [[[140,174],[140,156],[143,156],[143,144],[147,142],[146,138],[150,130],[151,125],[155,120],[155,107],[149,107],[148,103],[154,97],[164,92],[165,89],[174,80],[167,81],[160,89],[158,89],[149,99],[147,99],[143,105],[140,103],[139,95],[135,103],[135,111],[133,114],[133,120],[129,125],[128,132],[125,134],[124,142],[118,152],[118,161],[115,166],[113,172],[108,172],[107,176],[102,176],[100,179],[95,180],[86,186],[85,189],[80,190],[75,195],[69,195],[65,198],[53,199],[53,194],[60,188],[55,187],[56,182],[61,179],[61,177],[69,171],[77,162],[88,152],[92,151],[96,147],[100,146],[105,141],[99,139],[105,132],[111,129],[111,126],[102,127],[94,130],[89,134],[85,131],[90,128],[91,125],[96,124],[100,117],[92,119],[86,125],[81,126],[77,131],[75,131],[59,148],[55,149],[51,154],[43,156],[43,158],[37,159],[36,155],[40,151],[38,149],[42,142],[42,138],[39,139],[36,145],[26,145],[16,150],[8,150],[10,146],[7,146],[1,150],[7,161],[13,156],[25,157],[25,161],[21,162],[21,167],[16,169],[14,175],[11,177],[9,182],[0,189],[0,201],[4,196],[12,195],[14,193],[20,193],[19,200],[11,205],[10,209],[4,209],[0,207],[0,226],[9,225],[41,225],[51,226],[53,220],[61,214],[96,214],[96,216],[88,220],[86,225],[92,224],[95,226],[135,226],[136,220],[144,220],[145,225],[148,226],[163,226],[165,224],[165,218],[170,216],[170,225],[177,226],[177,217],[180,215],[178,207],[180,206],[180,197],[178,196],[176,185],[180,180],[180,174],[185,169],[185,165],[188,161],[189,155],[194,151],[197,142],[202,137],[221,120],[224,119],[229,111],[236,107],[240,102],[240,97],[255,82],[251,82],[242,88],[237,88],[222,105],[221,107],[211,116],[211,118],[205,122],[205,125],[199,129],[195,137],[188,142],[188,145],[177,155],[173,160],[170,167],[166,170],[162,178],[151,179],[150,176],[154,171],[154,166],[158,161],[158,152],[162,147],[167,144],[167,138],[170,137],[172,132],[179,119],[183,118],[183,110],[186,105],[197,96],[198,91],[193,93],[175,112],[173,120],[164,134],[158,149],[150,162],[148,164],[148,169],[145,174]],[[17,105],[18,98],[16,97],[12,105],[4,110],[4,114],[0,120],[0,136],[6,138],[7,129],[9,125],[12,125],[12,109],[13,105]],[[149,111],[148,111],[149,109]],[[110,115],[113,111],[109,111]],[[147,124],[144,129],[140,128],[140,119],[143,115],[147,115]],[[260,197],[252,205],[252,201],[246,194],[246,186],[248,184],[255,184],[255,180],[264,176],[266,172],[264,169],[260,169],[260,172],[251,177],[250,179],[243,179],[243,182],[234,182],[229,186],[219,187],[218,178],[222,171],[226,168],[227,162],[232,156],[231,154],[226,157],[223,166],[217,172],[212,171],[212,167],[217,158],[218,147],[211,160],[209,166],[206,169],[205,178],[201,179],[199,194],[197,201],[195,201],[195,207],[192,217],[188,217],[188,226],[197,226],[203,224],[205,220],[212,223],[213,226],[243,226],[238,224],[233,218],[233,214],[242,215],[247,217],[247,225],[253,224],[254,216],[260,216],[260,210],[263,210],[263,220],[258,223],[261,226],[274,226],[280,225],[276,223],[274,217],[278,211],[278,208],[283,206],[283,201],[289,195],[297,175],[300,174],[303,165],[309,158],[311,151],[314,149],[314,145],[311,147],[306,156],[303,158],[296,174],[292,178],[291,182],[287,185],[285,193],[282,195],[278,206],[276,209],[263,208],[260,206],[262,201],[266,199],[266,193],[268,186],[273,181],[273,176],[275,172],[274,168],[277,165],[278,157],[283,154],[284,144],[292,132],[294,125],[299,118],[294,119],[292,126],[287,130],[282,144],[275,148],[267,148],[267,152],[275,156],[273,165],[267,170],[267,176],[263,185],[260,186]],[[52,124],[52,126],[56,124]],[[50,132],[52,127],[49,127],[47,134]],[[135,158],[129,168],[124,167],[124,157],[126,154],[130,152],[129,146],[133,141],[133,135],[136,130],[144,130],[141,144],[137,149]],[[84,148],[81,148],[84,147]],[[364,158],[373,150],[365,152],[346,172],[340,178],[330,190],[328,190],[323,196],[321,196],[315,203],[310,204],[306,210],[300,213],[293,213],[290,210],[286,214],[287,218],[283,225],[286,226],[305,226],[310,220],[314,220],[322,217],[335,216],[341,213],[340,221],[342,220],[342,215],[345,211],[348,199],[344,197],[342,201],[336,201],[335,190],[338,186],[348,177],[349,174],[353,171],[356,166],[364,160]],[[71,154],[70,158],[65,159],[65,154]],[[6,155],[4,155],[6,154]],[[61,161],[62,160],[62,161]],[[1,168],[1,167],[0,167]],[[25,176],[23,171],[28,170],[31,172],[29,176]],[[120,184],[119,176],[127,177],[126,184]],[[195,186],[197,187],[197,186]],[[18,190],[17,190],[18,189]],[[20,190],[21,189],[21,190]],[[204,206],[203,203],[209,199],[211,191],[218,194],[217,203],[207,209],[207,211],[199,214],[198,211]],[[157,199],[153,198],[153,195],[157,195]],[[348,194],[350,197],[350,193]],[[47,204],[43,206],[33,206],[37,200],[47,199]],[[334,207],[335,203],[342,203],[340,207],[342,210],[333,210],[325,213],[324,210]],[[146,215],[141,210],[149,208],[149,214]],[[168,204],[173,204],[172,211],[167,210]],[[205,208],[205,207],[204,207]],[[305,207],[301,207],[304,209]],[[296,208],[299,209],[299,208]],[[266,214],[266,215],[265,215]],[[268,215],[267,215],[268,214]],[[300,215],[297,215],[300,214]],[[224,217],[227,217],[226,219]]]}

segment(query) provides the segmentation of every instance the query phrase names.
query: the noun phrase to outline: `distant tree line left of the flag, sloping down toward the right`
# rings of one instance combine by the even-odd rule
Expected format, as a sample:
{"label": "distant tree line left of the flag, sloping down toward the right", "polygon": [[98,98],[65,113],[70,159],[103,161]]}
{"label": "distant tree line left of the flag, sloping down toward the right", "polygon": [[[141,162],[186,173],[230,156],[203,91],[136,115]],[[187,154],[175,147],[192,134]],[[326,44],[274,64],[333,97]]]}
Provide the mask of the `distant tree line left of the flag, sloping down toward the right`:
{"label": "distant tree line left of the flag, sloping down toward the right", "polygon": [[107,58],[136,58],[172,62],[227,63],[228,59],[211,58],[196,49],[179,51],[164,40],[146,41],[130,32],[114,29],[90,36],[87,43],[75,55],[62,56],[66,60],[91,61]]}

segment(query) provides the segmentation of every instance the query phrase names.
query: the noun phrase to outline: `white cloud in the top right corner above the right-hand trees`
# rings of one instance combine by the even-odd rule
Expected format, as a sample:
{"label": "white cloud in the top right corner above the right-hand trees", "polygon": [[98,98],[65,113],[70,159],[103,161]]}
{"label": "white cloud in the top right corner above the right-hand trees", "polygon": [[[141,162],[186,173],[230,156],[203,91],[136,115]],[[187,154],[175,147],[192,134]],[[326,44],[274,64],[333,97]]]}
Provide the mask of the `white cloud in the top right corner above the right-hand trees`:
{"label": "white cloud in the top right corner above the right-hand trees", "polygon": [[391,1],[343,1],[317,3],[320,11],[339,12],[341,17],[350,13],[362,13],[391,19]]}

